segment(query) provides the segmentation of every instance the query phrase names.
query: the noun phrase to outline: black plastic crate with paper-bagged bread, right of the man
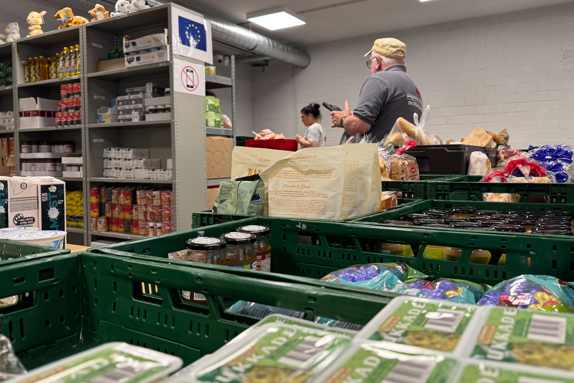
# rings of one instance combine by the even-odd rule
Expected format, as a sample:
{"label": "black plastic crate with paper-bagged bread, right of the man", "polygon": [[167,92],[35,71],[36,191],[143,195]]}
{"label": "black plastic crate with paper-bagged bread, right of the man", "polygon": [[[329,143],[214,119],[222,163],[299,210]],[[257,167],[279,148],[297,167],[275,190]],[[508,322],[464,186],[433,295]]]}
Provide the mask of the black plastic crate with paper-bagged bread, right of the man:
{"label": "black plastic crate with paper-bagged bread, right of the man", "polygon": [[417,159],[420,174],[467,174],[472,152],[483,152],[492,167],[497,166],[497,150],[470,145],[417,145],[406,151]]}

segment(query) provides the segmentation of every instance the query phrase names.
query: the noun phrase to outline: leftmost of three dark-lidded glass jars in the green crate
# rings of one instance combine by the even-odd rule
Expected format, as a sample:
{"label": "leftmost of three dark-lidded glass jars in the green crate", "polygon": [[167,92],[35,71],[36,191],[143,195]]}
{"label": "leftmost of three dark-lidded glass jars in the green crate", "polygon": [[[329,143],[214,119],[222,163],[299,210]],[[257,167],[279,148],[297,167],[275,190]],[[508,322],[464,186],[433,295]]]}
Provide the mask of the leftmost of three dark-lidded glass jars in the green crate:
{"label": "leftmost of three dark-lidded glass jars in the green crate", "polygon": [[[185,242],[185,247],[187,247],[186,261],[224,266],[226,244],[225,240],[215,237],[188,239]],[[181,299],[185,302],[207,306],[207,300],[203,294],[182,290]]]}

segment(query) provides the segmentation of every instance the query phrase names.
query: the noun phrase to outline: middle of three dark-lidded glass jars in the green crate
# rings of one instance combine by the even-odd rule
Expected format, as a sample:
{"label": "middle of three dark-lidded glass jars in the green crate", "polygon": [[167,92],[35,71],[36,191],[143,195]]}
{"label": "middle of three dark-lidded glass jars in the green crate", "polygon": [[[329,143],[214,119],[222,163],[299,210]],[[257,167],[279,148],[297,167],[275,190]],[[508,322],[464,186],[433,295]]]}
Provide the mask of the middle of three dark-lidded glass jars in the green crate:
{"label": "middle of three dark-lidded glass jars in the green crate", "polygon": [[255,241],[257,236],[251,233],[232,231],[224,233],[219,238],[227,242],[225,248],[225,263],[230,267],[239,269],[255,269],[257,267],[257,253]]}

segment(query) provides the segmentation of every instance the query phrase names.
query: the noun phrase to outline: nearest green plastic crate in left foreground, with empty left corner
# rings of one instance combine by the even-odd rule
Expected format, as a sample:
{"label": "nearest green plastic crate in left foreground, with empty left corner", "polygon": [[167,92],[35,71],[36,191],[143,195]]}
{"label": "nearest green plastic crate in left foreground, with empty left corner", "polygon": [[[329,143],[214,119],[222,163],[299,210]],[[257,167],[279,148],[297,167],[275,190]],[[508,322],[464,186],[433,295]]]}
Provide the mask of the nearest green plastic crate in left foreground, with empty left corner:
{"label": "nearest green plastic crate in left foreground, with empty left corner", "polygon": [[[0,267],[3,292],[28,293],[25,306],[0,309],[2,334],[28,369],[112,341],[177,355],[188,364],[257,321],[224,311],[239,299],[311,318],[367,323],[396,296],[311,278],[228,273],[231,267],[146,258],[151,257],[82,252]],[[181,289],[203,293],[208,306],[182,302]],[[340,309],[351,306],[361,309]]]}

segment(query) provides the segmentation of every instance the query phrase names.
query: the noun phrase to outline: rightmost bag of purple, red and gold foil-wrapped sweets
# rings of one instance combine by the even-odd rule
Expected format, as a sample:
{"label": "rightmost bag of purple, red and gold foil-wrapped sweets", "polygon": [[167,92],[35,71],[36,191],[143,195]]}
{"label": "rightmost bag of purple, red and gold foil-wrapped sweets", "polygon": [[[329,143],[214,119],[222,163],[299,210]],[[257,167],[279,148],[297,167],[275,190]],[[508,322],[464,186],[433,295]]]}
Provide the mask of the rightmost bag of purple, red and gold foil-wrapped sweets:
{"label": "rightmost bag of purple, red and gold foil-wrapped sweets", "polygon": [[550,275],[523,274],[489,289],[478,304],[572,313],[574,288]]}

